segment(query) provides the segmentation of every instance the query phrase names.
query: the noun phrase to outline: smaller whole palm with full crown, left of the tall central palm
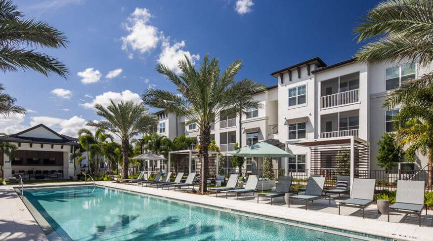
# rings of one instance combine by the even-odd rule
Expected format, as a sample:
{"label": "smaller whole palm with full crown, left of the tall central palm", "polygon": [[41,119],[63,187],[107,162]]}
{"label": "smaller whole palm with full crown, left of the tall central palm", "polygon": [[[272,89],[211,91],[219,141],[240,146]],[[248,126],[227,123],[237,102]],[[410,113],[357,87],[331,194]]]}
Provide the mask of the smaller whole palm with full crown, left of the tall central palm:
{"label": "smaller whole palm with full crown, left of the tall central palm", "polygon": [[[111,104],[106,108],[100,104],[95,105],[96,114],[106,121],[89,121],[88,126],[109,131],[119,137],[122,149],[122,178],[128,178],[130,139],[141,132],[147,131],[156,125],[156,118],[148,114],[143,103],[134,104],[132,101]],[[132,150],[132,149],[131,149]]]}

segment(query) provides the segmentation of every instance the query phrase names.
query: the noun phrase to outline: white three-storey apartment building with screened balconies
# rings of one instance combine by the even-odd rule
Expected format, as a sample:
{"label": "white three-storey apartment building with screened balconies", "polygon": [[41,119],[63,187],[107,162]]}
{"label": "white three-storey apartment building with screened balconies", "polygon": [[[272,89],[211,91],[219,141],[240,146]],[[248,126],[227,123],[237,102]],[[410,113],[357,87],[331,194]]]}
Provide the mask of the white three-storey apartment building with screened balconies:
{"label": "white three-storey apartment building with screened balconies", "polygon": [[[353,156],[359,170],[379,170],[377,141],[392,132],[392,117],[398,108],[388,110],[382,104],[387,94],[408,79],[432,70],[417,63],[357,63],[349,59],[327,65],[319,57],[291,65],[270,75],[276,85],[254,94],[263,108],[245,110],[242,115],[220,114],[212,129],[221,152],[268,141],[294,154],[295,158],[276,159],[274,168],[303,172],[335,169],[335,156],[354,142]],[[158,134],[198,136],[196,124],[186,125],[183,117],[156,113]],[[353,137],[353,138],[351,138]],[[326,149],[326,150],[325,150]],[[404,155],[404,154],[402,154]],[[226,162],[230,167],[230,162]],[[262,160],[248,159],[244,168],[261,168]],[[402,162],[398,168],[419,170],[427,159],[418,155],[415,163]]]}

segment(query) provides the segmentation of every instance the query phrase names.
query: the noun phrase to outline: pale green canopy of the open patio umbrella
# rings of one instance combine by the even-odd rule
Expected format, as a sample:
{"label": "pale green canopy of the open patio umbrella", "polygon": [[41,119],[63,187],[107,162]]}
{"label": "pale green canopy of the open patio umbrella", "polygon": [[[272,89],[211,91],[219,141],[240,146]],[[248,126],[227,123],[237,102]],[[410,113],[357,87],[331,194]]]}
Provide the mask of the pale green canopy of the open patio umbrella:
{"label": "pale green canopy of the open patio umbrella", "polygon": [[246,158],[292,158],[292,154],[271,145],[267,142],[259,142],[250,146],[243,147],[227,154],[246,157]]}

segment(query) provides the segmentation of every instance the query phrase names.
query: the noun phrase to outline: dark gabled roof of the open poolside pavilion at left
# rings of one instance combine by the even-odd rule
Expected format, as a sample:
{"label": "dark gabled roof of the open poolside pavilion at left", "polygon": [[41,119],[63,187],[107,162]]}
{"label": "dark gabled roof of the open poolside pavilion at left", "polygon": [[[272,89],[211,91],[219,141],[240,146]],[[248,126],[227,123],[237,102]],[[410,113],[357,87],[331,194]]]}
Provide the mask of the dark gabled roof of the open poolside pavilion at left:
{"label": "dark gabled roof of the open poolside pavilion at left", "polygon": [[[47,138],[36,138],[36,137],[24,137],[24,136],[19,136],[23,133],[26,133],[30,130],[39,128],[39,127],[43,127],[46,130],[52,132],[53,134],[57,135],[60,139],[47,139]],[[48,128],[46,125],[44,124],[39,124],[39,125],[35,125],[33,127],[30,127],[26,130],[20,131],[18,133],[12,134],[9,136],[9,138],[7,136],[0,136],[0,141],[4,141],[4,142],[22,142],[22,143],[39,143],[39,144],[57,144],[57,145],[73,145],[73,146],[79,146],[80,144],[77,143],[78,139],[74,138],[74,137],[70,137],[67,135],[61,135],[57,132],[55,132],[54,130]]]}

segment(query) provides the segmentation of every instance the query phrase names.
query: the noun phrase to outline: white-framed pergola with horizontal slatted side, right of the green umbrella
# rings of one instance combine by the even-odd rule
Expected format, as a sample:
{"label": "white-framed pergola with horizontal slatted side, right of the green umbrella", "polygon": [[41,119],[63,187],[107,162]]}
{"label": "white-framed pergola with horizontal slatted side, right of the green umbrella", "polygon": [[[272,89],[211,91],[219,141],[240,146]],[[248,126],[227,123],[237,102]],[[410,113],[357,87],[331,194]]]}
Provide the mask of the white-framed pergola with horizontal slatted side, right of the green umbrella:
{"label": "white-framed pergola with horizontal slatted side, right of the green umbrella", "polygon": [[[319,138],[311,141],[291,143],[309,147],[310,175],[322,175],[336,180],[337,175],[353,178],[368,178],[370,171],[370,143],[355,136]],[[349,157],[348,163],[343,160]]]}

